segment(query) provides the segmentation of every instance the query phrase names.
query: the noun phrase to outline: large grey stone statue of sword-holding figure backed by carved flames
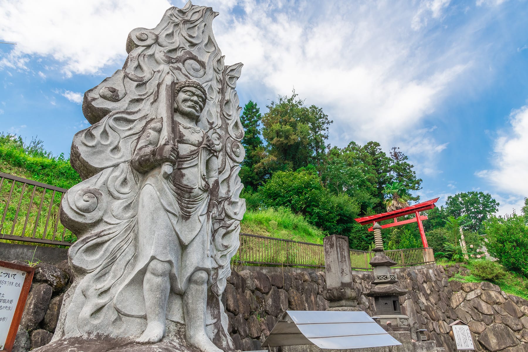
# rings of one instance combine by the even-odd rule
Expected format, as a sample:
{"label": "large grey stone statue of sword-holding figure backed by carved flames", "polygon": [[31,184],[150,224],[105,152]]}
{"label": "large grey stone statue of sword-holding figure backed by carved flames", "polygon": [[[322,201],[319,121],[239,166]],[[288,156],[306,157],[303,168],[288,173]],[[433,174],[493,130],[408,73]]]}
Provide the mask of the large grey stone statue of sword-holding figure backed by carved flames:
{"label": "large grey stone statue of sword-holding figure backed by carved flames", "polygon": [[61,208],[78,236],[76,279],[52,344],[101,336],[234,350],[221,297],[246,209],[242,64],[224,66],[216,15],[169,8],[156,28],[130,32],[123,69],[84,94],[92,126],[71,148],[83,181]]}

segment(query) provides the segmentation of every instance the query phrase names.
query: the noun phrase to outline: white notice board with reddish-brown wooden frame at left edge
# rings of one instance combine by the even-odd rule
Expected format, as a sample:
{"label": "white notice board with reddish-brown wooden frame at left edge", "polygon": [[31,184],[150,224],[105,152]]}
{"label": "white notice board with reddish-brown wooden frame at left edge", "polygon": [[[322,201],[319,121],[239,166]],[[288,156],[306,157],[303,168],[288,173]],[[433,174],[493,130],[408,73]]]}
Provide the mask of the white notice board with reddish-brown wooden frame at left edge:
{"label": "white notice board with reddish-brown wooden frame at left edge", "polygon": [[0,352],[11,352],[35,269],[0,260]]}

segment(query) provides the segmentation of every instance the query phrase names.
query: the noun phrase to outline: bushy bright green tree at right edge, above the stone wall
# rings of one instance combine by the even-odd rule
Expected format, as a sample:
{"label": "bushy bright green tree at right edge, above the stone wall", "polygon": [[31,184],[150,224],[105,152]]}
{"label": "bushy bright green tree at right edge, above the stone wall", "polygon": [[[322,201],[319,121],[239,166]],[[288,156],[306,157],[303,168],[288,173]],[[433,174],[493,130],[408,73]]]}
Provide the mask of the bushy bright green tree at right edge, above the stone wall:
{"label": "bushy bright green tree at right edge, above the stone wall", "polygon": [[504,267],[528,277],[528,226],[524,217],[492,216],[484,222],[486,248]]}

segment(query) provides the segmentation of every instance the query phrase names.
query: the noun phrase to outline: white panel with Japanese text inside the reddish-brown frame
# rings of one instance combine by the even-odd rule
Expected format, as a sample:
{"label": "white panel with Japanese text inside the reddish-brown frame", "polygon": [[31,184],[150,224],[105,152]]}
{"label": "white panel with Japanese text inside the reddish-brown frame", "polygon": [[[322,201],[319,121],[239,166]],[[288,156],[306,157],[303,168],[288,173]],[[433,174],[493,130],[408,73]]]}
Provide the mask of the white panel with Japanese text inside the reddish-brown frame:
{"label": "white panel with Japanese text inside the reddish-brown frame", "polygon": [[0,350],[4,349],[25,276],[24,271],[0,267]]}

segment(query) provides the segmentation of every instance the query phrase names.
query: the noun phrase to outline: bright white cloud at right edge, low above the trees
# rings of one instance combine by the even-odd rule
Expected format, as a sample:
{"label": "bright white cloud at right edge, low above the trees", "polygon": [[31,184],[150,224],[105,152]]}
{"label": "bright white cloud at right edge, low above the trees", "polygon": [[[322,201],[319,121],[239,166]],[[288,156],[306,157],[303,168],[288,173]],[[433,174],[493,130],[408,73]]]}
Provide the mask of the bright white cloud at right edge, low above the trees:
{"label": "bright white cloud at right edge, low above the trees", "polygon": [[493,148],[493,169],[475,174],[497,191],[516,197],[528,196],[528,105],[510,114],[510,128],[500,131]]}

